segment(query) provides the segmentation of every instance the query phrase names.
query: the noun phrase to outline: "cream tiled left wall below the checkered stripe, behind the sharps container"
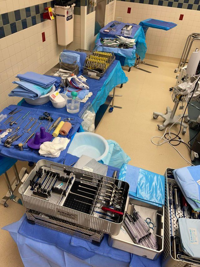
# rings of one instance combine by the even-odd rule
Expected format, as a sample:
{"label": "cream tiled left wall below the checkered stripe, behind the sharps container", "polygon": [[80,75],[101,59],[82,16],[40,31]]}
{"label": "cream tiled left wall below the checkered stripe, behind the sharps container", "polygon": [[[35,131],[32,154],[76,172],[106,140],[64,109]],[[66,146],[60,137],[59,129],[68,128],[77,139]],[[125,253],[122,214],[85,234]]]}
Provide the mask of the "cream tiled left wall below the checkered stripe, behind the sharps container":
{"label": "cream tiled left wall below the checkered stripe, behind the sharps container", "polygon": [[[46,41],[42,42],[42,32]],[[69,49],[80,47],[80,16],[74,15],[74,41]],[[59,62],[65,46],[58,46],[56,20],[46,20],[30,28],[0,39],[0,110],[17,104],[20,98],[8,97],[16,87],[15,76],[26,71],[45,73]]]}

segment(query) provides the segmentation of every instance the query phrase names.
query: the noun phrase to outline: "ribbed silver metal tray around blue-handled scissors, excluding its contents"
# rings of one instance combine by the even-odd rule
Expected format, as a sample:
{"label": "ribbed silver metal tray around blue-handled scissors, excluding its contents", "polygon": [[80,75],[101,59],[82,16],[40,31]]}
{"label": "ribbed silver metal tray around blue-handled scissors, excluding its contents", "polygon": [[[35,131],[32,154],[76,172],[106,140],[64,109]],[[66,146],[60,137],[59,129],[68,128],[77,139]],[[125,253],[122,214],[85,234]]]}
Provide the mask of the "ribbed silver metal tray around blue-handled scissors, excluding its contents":
{"label": "ribbed silver metal tray around blue-handled scissors, excluding its contents", "polygon": [[119,235],[117,236],[109,235],[108,244],[113,248],[124,250],[150,260],[156,260],[162,253],[164,246],[164,206],[157,207],[131,198],[129,201],[133,205],[155,209],[160,214],[160,216],[156,216],[155,218],[155,239],[159,245],[159,249],[153,250],[141,245],[134,244],[125,229],[121,229]]}

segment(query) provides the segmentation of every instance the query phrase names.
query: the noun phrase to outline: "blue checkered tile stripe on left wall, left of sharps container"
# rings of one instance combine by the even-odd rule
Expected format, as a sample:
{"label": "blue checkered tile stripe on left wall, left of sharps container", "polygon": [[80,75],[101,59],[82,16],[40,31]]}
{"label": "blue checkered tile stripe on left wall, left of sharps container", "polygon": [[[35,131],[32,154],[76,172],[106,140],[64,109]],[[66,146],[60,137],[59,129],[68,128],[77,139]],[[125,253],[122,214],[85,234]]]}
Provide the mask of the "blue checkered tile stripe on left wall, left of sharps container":
{"label": "blue checkered tile stripe on left wall, left of sharps container", "polygon": [[54,7],[54,2],[49,1],[40,5],[0,14],[0,39],[43,22],[45,7]]}

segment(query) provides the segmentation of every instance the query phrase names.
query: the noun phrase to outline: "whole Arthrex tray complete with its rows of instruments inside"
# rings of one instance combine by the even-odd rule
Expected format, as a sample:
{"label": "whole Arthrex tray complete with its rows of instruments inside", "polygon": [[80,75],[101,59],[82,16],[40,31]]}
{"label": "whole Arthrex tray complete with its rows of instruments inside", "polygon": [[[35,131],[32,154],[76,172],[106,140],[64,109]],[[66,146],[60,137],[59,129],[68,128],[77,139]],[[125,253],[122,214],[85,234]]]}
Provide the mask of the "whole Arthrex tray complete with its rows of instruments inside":
{"label": "whole Arthrex tray complete with its rows of instruments inside", "polygon": [[40,160],[20,187],[26,208],[108,234],[118,234],[129,184]]}

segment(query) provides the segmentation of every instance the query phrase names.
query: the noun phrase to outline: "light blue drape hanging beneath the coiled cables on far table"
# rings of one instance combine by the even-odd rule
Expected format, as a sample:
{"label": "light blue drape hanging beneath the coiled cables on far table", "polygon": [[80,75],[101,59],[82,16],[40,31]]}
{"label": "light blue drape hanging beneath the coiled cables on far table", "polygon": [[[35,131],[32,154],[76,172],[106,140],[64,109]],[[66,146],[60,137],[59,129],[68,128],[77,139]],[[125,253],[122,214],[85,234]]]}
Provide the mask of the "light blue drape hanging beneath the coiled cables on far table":
{"label": "light blue drape hanging beneath the coiled cables on far table", "polygon": [[121,56],[122,60],[119,57],[121,66],[132,67],[135,65],[136,46],[133,46],[133,48],[129,48],[129,49],[121,49],[118,47],[108,47],[108,46],[103,46],[100,39],[98,39],[94,50],[110,52],[110,53],[114,52],[115,56]]}

